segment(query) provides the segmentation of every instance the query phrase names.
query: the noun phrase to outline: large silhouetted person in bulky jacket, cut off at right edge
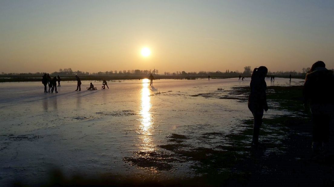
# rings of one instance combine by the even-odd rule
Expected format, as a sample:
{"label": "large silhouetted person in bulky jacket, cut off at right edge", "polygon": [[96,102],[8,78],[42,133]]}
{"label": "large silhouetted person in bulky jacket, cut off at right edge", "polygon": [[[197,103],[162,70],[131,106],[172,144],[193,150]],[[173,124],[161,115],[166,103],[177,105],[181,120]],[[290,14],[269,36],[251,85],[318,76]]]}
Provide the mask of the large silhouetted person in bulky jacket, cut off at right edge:
{"label": "large silhouetted person in bulky jacket, cut off at right edge", "polygon": [[324,143],[329,140],[329,124],[334,107],[334,76],[322,61],[314,63],[306,74],[303,97],[304,108],[310,109],[313,123],[312,150],[317,153],[324,150]]}

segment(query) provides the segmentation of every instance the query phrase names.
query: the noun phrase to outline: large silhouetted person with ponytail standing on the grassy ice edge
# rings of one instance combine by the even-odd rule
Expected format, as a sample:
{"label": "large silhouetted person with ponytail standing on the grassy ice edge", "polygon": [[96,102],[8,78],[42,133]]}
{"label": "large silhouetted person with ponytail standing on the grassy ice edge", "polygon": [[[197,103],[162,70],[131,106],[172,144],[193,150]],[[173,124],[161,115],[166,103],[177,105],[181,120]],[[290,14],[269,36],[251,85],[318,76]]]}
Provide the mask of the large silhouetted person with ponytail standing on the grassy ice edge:
{"label": "large silhouetted person with ponytail standing on the grassy ice edge", "polygon": [[265,81],[268,69],[265,66],[255,68],[251,77],[251,92],[248,97],[248,108],[254,116],[252,147],[259,146],[260,127],[263,111],[268,111]]}

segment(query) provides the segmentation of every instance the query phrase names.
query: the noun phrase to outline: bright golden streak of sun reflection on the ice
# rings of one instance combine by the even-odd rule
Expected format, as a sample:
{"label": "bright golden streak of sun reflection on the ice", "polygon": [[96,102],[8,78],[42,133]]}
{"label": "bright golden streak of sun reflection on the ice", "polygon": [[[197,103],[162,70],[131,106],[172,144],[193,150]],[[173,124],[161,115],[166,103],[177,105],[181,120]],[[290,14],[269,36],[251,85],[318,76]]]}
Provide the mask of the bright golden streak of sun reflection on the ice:
{"label": "bright golden streak of sun reflection on the ice", "polygon": [[151,129],[152,129],[152,118],[150,113],[151,101],[150,101],[150,89],[149,80],[143,79],[143,89],[142,89],[142,98],[141,98],[141,110],[140,115],[141,118],[141,135],[140,139],[142,140],[142,151],[153,151],[154,145],[151,140]]}

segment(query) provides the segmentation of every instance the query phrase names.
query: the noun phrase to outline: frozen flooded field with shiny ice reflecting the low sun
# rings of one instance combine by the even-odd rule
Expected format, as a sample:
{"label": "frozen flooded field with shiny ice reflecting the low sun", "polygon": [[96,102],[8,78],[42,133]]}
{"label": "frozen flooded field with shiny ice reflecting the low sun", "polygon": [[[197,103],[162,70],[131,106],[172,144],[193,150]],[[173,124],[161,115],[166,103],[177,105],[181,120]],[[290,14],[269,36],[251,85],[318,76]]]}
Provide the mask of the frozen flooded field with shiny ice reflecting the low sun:
{"label": "frozen flooded field with shiny ice reflecting the low sun", "polygon": [[[301,85],[303,80],[266,79],[267,86]],[[195,161],[168,151],[171,141],[188,148],[229,145],[221,134],[235,134],[252,119],[247,95],[235,79],[61,82],[58,94],[43,93],[41,82],[0,83],[0,183],[39,183],[52,168],[75,173],[156,173],[192,176]],[[218,90],[219,89],[219,90]],[[270,109],[266,118],[286,111]],[[215,134],[220,134],[216,136]],[[250,138],[249,138],[250,139]],[[182,147],[180,147],[182,149]],[[170,154],[154,156],[164,152]],[[150,159],[147,159],[150,158]],[[160,164],[159,159],[163,162]],[[165,159],[165,160],[164,160]]]}

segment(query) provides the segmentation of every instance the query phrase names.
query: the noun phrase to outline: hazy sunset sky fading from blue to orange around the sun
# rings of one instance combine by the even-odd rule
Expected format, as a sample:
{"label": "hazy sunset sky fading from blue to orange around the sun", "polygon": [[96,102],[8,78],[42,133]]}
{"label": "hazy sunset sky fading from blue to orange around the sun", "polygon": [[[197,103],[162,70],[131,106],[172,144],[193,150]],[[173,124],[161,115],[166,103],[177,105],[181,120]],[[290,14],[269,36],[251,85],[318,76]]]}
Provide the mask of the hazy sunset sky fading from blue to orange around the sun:
{"label": "hazy sunset sky fading from blue to orange around the sun", "polygon": [[333,0],[0,0],[0,33],[5,73],[334,68]]}

